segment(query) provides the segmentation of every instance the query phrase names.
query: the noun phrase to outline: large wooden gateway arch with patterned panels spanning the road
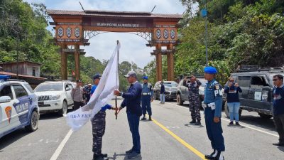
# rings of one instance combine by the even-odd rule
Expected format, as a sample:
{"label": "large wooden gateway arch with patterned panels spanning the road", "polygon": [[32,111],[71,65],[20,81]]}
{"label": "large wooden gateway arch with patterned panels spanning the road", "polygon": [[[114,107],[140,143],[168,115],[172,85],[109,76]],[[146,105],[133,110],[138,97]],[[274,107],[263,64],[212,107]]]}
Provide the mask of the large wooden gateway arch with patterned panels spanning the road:
{"label": "large wooden gateway arch with patterned panels spanning the road", "polygon": [[[75,78],[80,79],[80,46],[89,46],[89,38],[104,32],[134,33],[155,46],[156,79],[162,80],[162,55],[167,55],[168,80],[174,80],[173,54],[178,43],[180,14],[151,14],[126,11],[48,10],[54,22],[55,41],[61,47],[61,79],[67,80],[67,54],[75,57]],[[74,46],[74,49],[67,48]],[[162,46],[166,49],[162,50]]]}

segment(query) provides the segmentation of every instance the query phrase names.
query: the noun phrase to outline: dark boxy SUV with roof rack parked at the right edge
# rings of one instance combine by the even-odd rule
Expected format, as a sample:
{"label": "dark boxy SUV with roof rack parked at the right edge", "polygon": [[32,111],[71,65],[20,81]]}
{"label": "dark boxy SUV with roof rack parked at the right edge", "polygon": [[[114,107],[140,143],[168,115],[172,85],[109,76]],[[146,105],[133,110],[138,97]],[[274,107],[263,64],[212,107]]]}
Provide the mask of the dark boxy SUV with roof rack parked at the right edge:
{"label": "dark boxy SUV with roof rack parked at the right edge", "polygon": [[[243,92],[239,93],[242,110],[258,112],[262,118],[270,119],[273,115],[273,75],[284,75],[283,68],[251,68],[232,73],[231,77],[239,84]],[[225,104],[226,116],[229,117],[229,108]]]}

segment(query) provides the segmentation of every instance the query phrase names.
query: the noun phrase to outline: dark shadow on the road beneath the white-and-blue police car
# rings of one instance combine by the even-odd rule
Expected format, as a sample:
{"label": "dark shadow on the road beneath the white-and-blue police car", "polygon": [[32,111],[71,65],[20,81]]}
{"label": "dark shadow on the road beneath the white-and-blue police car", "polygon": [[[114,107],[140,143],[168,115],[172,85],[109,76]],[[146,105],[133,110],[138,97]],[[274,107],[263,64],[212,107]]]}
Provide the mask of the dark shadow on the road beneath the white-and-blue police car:
{"label": "dark shadow on the road beneath the white-and-blue police car", "polygon": [[2,137],[0,139],[0,152],[2,152],[2,149],[6,148],[6,146],[13,144],[13,142],[18,141],[18,139],[21,139],[30,133],[31,132],[27,132],[25,128],[21,128]]}

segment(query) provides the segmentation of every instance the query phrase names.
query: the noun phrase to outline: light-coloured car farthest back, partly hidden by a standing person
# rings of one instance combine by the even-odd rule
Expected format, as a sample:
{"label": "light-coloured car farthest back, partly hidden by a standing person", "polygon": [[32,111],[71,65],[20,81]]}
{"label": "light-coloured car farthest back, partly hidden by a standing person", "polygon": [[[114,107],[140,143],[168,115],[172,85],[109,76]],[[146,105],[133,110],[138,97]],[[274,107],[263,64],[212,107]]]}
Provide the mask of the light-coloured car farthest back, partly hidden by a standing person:
{"label": "light-coloured car farthest back, partly hidden by a standing person", "polygon": [[[178,83],[175,81],[163,81],[165,85],[165,100],[173,100],[176,98]],[[160,81],[156,82],[153,88],[154,100],[160,99]]]}

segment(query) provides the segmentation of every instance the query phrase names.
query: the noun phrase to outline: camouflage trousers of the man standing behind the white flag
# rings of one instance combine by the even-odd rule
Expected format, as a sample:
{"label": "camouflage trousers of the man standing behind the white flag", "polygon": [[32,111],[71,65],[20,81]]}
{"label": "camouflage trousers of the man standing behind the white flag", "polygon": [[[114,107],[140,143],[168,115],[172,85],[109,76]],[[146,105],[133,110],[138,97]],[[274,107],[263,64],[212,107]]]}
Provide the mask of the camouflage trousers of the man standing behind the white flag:
{"label": "camouflage trousers of the man standing behind the white flag", "polygon": [[93,130],[93,152],[96,155],[102,154],[102,137],[106,130],[106,111],[101,110],[92,119]]}

